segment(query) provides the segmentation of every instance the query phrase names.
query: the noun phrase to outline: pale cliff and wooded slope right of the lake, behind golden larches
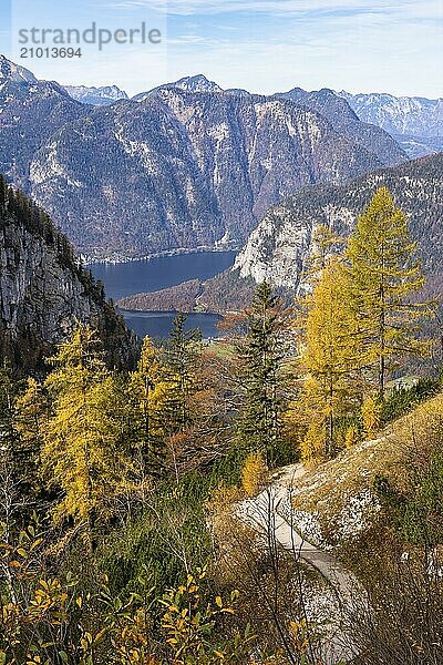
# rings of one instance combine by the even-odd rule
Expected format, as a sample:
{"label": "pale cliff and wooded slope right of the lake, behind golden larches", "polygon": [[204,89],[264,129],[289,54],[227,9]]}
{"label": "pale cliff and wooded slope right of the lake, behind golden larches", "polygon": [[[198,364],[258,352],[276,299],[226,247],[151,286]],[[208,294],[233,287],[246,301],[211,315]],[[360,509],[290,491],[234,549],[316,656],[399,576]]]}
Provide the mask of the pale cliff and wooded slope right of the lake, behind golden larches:
{"label": "pale cliff and wooded slope right of the lake, behind golden larches", "polygon": [[[234,267],[208,280],[199,297],[208,308],[238,308],[257,284],[267,280],[280,293],[297,291],[312,235],[327,224],[341,236],[353,228],[374,191],[387,185],[409,215],[430,282],[443,279],[443,153],[378,171],[349,184],[306,187],[274,207],[250,234]],[[228,295],[227,295],[228,294]]]}

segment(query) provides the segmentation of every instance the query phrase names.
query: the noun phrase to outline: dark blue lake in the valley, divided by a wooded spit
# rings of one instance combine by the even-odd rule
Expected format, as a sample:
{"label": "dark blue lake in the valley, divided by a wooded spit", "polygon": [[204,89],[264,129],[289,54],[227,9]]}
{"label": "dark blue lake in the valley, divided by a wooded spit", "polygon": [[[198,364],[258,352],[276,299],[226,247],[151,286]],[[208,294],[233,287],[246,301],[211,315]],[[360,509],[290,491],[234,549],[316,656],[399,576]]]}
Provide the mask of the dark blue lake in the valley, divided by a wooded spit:
{"label": "dark blue lake in the valley, divided by a wooded spit", "polygon": [[[106,296],[119,300],[134,294],[151,293],[175,286],[187,279],[209,279],[235,262],[235,252],[202,252],[162,256],[150,260],[122,264],[92,264],[95,279],[105,286]],[[141,337],[167,337],[175,314],[169,311],[123,311],[127,326]],[[217,337],[220,317],[213,314],[189,314],[186,327],[199,328],[203,337]]]}

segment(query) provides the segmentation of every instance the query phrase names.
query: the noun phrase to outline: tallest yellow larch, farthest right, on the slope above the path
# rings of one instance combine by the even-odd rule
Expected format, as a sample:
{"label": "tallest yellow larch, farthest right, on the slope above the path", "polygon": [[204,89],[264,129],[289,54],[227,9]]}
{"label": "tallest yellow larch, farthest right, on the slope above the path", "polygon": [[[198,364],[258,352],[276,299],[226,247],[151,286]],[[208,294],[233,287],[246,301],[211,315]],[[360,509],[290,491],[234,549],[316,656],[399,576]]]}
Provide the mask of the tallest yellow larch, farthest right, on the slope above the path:
{"label": "tallest yellow larch, farthest right, on the slope above the path", "polygon": [[391,364],[421,355],[426,347],[416,334],[429,307],[411,301],[424,284],[415,250],[404,213],[387,187],[379,188],[358,219],[347,255],[362,340],[361,365],[375,369],[381,397]]}

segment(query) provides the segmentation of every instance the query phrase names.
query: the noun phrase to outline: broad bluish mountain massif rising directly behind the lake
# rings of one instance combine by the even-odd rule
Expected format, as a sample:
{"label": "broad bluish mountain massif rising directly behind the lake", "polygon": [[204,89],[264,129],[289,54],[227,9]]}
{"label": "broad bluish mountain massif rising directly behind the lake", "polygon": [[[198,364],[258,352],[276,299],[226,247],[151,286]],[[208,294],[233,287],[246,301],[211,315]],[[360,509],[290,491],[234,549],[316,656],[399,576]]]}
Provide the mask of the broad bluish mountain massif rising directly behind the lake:
{"label": "broad bluish mountain massif rising directly behind the lake", "polygon": [[238,247],[300,187],[406,157],[331,91],[264,98],[196,76],[91,108],[1,66],[0,167],[94,258]]}

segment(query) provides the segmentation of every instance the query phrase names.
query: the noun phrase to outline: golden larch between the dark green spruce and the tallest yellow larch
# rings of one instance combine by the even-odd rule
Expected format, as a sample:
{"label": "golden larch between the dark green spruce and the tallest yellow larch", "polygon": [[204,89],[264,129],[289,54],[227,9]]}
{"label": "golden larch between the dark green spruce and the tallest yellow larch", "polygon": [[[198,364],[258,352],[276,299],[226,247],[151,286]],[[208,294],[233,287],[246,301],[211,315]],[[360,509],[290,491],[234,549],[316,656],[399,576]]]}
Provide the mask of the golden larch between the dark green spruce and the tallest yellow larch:
{"label": "golden larch between the dark green spruce and the tallest yellow larch", "polygon": [[307,298],[306,339],[301,367],[307,372],[303,400],[324,421],[324,456],[333,450],[337,415],[349,412],[359,399],[359,338],[349,307],[350,280],[340,258],[330,258]]}

